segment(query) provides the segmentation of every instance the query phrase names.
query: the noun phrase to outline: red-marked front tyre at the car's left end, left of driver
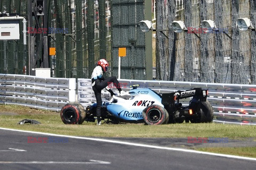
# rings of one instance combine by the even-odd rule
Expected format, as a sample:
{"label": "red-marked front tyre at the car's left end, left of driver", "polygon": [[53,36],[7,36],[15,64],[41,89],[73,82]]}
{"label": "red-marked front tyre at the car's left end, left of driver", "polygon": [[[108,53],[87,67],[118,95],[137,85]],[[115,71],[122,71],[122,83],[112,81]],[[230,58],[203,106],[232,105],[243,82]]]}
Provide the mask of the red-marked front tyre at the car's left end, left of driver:
{"label": "red-marked front tyre at the car's left end, left of driver", "polygon": [[84,107],[77,103],[68,103],[61,108],[60,117],[65,124],[82,124],[85,118]]}

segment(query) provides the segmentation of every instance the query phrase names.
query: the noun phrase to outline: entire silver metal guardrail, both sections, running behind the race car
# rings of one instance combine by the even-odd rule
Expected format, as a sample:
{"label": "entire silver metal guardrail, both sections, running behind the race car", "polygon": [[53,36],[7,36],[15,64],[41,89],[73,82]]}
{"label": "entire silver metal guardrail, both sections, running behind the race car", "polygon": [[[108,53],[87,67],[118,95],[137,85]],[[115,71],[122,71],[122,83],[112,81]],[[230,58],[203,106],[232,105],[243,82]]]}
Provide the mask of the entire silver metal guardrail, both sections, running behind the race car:
{"label": "entire silver metal guardrail, both sections, running behind the race car", "polygon": [[[256,125],[256,85],[175,81],[120,80],[123,90],[130,85],[150,88],[160,94],[201,87],[214,110],[214,122]],[[113,89],[117,93],[116,89]],[[102,90],[103,100],[110,94]],[[15,104],[59,112],[63,105],[76,100],[76,79],[38,78],[29,75],[0,74],[0,104]],[[182,99],[189,102],[190,99]],[[77,101],[84,107],[94,103],[90,79],[77,80]]]}

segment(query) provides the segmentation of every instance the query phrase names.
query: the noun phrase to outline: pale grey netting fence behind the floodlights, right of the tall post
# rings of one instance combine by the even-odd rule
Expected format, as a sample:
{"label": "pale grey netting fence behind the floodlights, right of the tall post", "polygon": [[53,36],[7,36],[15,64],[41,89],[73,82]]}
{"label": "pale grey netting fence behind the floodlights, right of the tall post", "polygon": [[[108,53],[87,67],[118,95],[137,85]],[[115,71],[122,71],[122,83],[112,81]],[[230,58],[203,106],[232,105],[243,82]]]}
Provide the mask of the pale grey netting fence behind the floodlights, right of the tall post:
{"label": "pale grey netting fence behind the floodlights, right of the tall post", "polygon": [[[242,32],[236,26],[238,18],[249,18],[256,26],[255,1],[174,2],[156,1],[157,28],[170,28],[172,21],[181,20],[185,22],[188,31],[174,33],[173,36],[172,30],[169,30],[168,40],[160,32],[157,33],[156,79],[255,84],[255,31]],[[172,12],[173,5],[175,12]],[[227,34],[223,31],[200,31],[203,20],[213,20],[216,27],[226,30]],[[189,32],[189,28],[196,30],[199,37]],[[166,51],[166,48],[173,49],[173,43],[175,55],[173,50]],[[168,57],[165,58],[166,56]]]}

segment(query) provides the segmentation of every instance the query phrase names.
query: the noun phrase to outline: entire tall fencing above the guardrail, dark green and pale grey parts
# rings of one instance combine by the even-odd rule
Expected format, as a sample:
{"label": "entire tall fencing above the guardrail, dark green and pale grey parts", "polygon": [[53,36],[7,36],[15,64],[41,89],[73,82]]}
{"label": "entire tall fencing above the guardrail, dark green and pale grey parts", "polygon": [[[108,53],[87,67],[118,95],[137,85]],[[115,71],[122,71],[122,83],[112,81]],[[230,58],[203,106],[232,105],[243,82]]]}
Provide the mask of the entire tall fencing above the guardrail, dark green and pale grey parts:
{"label": "entire tall fencing above the guardrail, dark green and pale grey parts", "polygon": [[[146,79],[145,0],[47,0],[48,45],[52,77],[90,78],[95,62],[110,61],[117,76],[118,48],[126,47],[121,78]],[[163,0],[156,6],[156,79],[215,83],[256,83],[255,31],[238,31],[236,20],[249,18],[256,26],[255,0]],[[1,0],[2,13],[27,16],[28,0]],[[155,15],[153,15],[155,16]],[[223,32],[175,33],[173,21],[199,30],[213,20]],[[58,32],[65,29],[66,32]],[[54,30],[54,31],[52,31]],[[20,40],[0,41],[0,73],[23,74],[29,65],[28,47]],[[28,67],[27,67],[28,70]],[[28,74],[28,72],[27,72]]]}

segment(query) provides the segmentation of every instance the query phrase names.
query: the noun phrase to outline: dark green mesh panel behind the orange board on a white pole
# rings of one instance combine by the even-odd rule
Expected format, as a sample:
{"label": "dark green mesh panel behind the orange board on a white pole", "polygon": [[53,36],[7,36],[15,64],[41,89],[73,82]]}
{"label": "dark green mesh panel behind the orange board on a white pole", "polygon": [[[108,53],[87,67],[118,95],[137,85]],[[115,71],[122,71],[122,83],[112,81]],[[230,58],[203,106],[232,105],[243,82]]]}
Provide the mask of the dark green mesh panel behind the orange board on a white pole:
{"label": "dark green mesh panel behind the orange board on a white pole", "polygon": [[120,58],[120,77],[145,80],[145,32],[138,25],[145,18],[144,0],[113,0],[111,6],[112,73],[118,75],[119,48],[125,48],[126,56]]}

